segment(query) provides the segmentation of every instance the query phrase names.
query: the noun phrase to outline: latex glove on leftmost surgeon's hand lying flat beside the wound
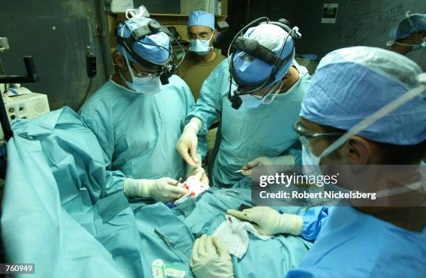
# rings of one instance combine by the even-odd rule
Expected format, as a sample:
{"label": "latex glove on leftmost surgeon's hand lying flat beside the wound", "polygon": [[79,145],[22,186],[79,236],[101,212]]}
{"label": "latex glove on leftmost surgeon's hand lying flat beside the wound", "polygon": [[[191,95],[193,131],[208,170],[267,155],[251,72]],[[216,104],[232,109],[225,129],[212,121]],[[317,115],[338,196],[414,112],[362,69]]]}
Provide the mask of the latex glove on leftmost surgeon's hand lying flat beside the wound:
{"label": "latex glove on leftmost surgeon's hand lying flat beside the wound", "polygon": [[176,187],[178,181],[161,179],[125,179],[124,191],[128,197],[152,198],[160,202],[179,199],[188,193],[185,188]]}

